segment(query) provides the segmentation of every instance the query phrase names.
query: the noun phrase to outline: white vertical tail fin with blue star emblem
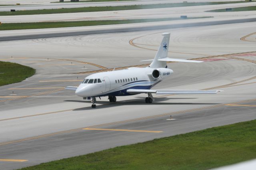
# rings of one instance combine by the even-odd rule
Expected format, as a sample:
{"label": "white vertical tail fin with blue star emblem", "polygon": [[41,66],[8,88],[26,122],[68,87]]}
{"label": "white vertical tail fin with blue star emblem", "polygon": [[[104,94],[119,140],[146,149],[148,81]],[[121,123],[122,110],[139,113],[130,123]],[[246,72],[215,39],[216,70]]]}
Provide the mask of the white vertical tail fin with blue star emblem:
{"label": "white vertical tail fin with blue star emblem", "polygon": [[158,59],[167,58],[169,41],[170,41],[170,33],[164,33],[162,34],[162,36],[164,36],[164,38],[158,48],[158,51],[156,53],[156,56],[153,62],[149,66],[150,68],[165,68],[167,65],[166,61],[158,61]]}

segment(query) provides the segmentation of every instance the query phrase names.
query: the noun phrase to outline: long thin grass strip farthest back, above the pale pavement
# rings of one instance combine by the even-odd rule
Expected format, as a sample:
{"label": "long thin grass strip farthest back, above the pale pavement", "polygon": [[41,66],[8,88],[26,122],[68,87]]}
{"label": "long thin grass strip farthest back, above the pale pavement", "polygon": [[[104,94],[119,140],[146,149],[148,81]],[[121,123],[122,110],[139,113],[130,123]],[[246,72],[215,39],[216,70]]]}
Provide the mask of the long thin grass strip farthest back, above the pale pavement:
{"label": "long thin grass strip farthest back, above the pale pavement", "polygon": [[61,9],[47,9],[47,10],[18,10],[16,12],[0,12],[0,16],[60,14],[60,13],[74,13],[74,12],[115,11],[115,10],[138,10],[138,9],[152,9],[152,8],[171,8],[171,7],[180,7],[180,6],[234,4],[234,3],[243,3],[243,2],[245,1],[149,4],[149,5],[130,5],[130,6],[97,6],[97,7],[61,8]]}

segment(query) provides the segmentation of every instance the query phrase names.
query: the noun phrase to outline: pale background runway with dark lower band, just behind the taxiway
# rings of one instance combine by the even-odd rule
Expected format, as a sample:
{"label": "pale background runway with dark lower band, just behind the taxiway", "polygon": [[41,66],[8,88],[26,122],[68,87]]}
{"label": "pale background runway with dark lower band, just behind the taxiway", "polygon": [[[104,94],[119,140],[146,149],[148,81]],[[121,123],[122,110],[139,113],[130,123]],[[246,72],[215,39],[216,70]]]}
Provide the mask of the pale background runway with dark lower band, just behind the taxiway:
{"label": "pale background runway with dark lower band, just behind the taxiway", "polygon": [[82,36],[93,34],[108,34],[120,32],[135,32],[146,30],[158,30],[167,28],[186,28],[196,26],[210,26],[219,24],[233,24],[244,22],[255,22],[255,16],[243,16],[230,18],[203,18],[191,20],[177,20],[164,22],[145,22],[136,24],[119,24],[104,26],[86,26],[86,27],[70,27],[70,28],[46,28],[32,30],[7,30],[0,32],[1,41],[14,40],[30,40],[37,38],[57,38],[66,36]]}

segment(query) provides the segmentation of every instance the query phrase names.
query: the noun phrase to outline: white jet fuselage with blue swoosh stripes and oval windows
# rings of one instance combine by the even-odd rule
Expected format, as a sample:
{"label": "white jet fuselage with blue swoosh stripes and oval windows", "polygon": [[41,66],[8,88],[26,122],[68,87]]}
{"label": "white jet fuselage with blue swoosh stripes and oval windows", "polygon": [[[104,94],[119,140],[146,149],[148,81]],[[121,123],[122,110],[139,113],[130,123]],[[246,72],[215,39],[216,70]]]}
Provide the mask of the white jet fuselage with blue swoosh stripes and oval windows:
{"label": "white jet fuselage with blue swoosh stripes and oval windows", "polygon": [[127,93],[126,90],[151,89],[172,73],[173,71],[168,68],[153,69],[149,67],[95,73],[84,79],[76,89],[76,95],[81,97],[133,95]]}

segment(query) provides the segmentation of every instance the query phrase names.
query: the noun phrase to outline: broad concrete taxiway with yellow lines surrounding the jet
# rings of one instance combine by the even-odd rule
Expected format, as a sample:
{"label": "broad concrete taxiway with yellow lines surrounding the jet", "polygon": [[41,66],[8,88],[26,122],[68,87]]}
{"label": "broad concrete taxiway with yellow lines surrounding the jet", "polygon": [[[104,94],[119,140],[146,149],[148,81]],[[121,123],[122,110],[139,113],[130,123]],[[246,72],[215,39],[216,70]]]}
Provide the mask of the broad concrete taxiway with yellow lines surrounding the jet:
{"label": "broad concrete taxiway with yellow lines surrounding the jet", "polygon": [[[1,61],[37,71],[0,87],[1,168],[255,119],[255,28],[256,22],[246,22],[0,42]],[[168,63],[174,74],[154,88],[221,93],[154,95],[151,104],[145,94],[116,103],[103,97],[92,109],[63,89],[102,69],[144,67],[148,63],[139,61],[154,57],[163,32],[171,33],[169,57],[205,62]]]}

